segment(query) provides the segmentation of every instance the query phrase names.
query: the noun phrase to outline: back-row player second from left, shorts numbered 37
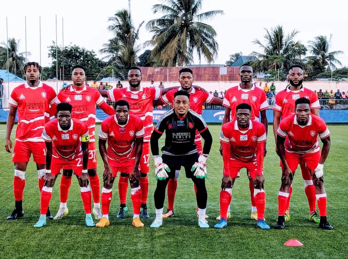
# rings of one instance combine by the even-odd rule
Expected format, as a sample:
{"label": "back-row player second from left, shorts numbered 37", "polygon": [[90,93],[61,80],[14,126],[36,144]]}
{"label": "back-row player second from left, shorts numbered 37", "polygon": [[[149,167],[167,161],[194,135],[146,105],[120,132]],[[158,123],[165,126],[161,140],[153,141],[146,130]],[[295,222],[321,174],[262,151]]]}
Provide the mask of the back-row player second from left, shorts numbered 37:
{"label": "back-row player second from left, shorts numbered 37", "polygon": [[[97,156],[95,148],[95,106],[98,105],[106,114],[114,114],[114,110],[105,102],[98,90],[93,87],[85,86],[86,70],[83,66],[76,65],[72,67],[73,85],[58,93],[56,104],[65,102],[73,106],[72,116],[87,124],[89,131],[89,147],[88,147],[88,176],[90,187],[92,188],[94,208],[93,214],[96,219],[102,217],[100,209],[100,184],[97,174]],[[69,213],[66,205],[71,185],[71,169],[63,169],[61,180],[61,202],[59,210],[54,219],[61,219]]]}

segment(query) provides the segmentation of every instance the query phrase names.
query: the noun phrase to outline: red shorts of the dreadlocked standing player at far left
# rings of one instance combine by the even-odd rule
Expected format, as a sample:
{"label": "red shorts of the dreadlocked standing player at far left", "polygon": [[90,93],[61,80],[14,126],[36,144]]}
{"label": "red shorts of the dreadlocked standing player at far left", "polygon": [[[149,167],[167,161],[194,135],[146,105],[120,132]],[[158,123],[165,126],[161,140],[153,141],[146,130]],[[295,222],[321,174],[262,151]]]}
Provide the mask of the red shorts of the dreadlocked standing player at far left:
{"label": "red shorts of the dreadlocked standing player at far left", "polygon": [[22,163],[30,160],[33,154],[34,162],[46,164],[46,145],[45,142],[15,141],[12,153],[12,162]]}

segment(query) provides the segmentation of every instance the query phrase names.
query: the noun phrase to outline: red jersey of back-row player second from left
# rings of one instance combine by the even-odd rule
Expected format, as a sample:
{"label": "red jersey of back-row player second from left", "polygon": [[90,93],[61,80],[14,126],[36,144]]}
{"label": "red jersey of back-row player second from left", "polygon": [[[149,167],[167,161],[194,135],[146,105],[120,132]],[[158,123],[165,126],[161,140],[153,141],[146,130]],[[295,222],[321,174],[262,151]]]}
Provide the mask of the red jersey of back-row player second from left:
{"label": "red jersey of back-row player second from left", "polygon": [[[66,91],[60,91],[57,95],[56,104],[70,103],[72,105],[72,117],[87,124],[89,131],[89,142],[95,142],[95,105],[107,107],[104,98],[96,88],[84,86],[82,90],[71,86]],[[102,106],[103,107],[103,106]],[[108,106],[113,114],[113,109]],[[104,110],[104,109],[103,109]],[[105,110],[104,110],[105,111]]]}

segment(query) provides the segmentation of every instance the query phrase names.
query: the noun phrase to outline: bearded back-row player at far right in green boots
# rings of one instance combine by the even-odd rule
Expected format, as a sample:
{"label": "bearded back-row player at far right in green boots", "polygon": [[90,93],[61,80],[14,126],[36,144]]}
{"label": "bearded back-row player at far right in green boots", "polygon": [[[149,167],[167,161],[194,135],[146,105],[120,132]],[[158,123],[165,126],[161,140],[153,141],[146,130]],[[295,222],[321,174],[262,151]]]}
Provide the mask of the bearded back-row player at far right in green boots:
{"label": "bearded back-row player at far right in green boots", "polygon": [[[295,101],[298,98],[306,97],[310,102],[310,111],[312,114],[319,116],[319,100],[315,92],[304,88],[302,81],[304,78],[303,68],[295,65],[289,68],[288,80],[290,86],[285,90],[280,91],[275,98],[273,107],[273,132],[277,142],[277,130],[280,119],[285,119],[291,114],[295,114]],[[280,165],[282,166],[282,165]],[[315,186],[313,185],[312,176],[305,164],[300,162],[301,173],[304,179],[304,192],[306,193],[309,203],[309,220],[319,223],[320,217],[316,208]],[[289,187],[289,197],[287,199],[285,209],[285,221],[290,220],[290,197],[292,193],[292,185]]]}

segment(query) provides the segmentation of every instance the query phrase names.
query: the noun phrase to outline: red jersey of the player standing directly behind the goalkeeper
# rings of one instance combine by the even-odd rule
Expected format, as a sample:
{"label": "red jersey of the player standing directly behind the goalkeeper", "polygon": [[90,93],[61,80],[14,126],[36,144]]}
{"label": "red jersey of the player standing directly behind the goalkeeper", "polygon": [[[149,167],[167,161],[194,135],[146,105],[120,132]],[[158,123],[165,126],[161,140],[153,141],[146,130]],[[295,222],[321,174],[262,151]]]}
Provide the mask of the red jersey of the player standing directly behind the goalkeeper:
{"label": "red jersey of the player standing directly behind the goalkeeper", "polygon": [[[168,91],[165,95],[161,97],[164,103],[170,103],[172,106],[174,104],[174,93],[176,91],[183,90],[181,87],[179,89],[173,89]],[[192,87],[190,92],[190,109],[199,115],[202,115],[202,108],[204,103],[211,103],[214,100],[214,96],[209,95],[208,92],[203,90],[196,90]]]}

